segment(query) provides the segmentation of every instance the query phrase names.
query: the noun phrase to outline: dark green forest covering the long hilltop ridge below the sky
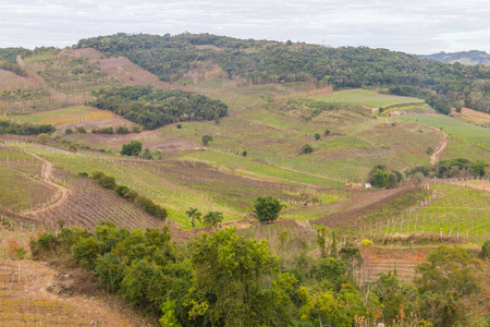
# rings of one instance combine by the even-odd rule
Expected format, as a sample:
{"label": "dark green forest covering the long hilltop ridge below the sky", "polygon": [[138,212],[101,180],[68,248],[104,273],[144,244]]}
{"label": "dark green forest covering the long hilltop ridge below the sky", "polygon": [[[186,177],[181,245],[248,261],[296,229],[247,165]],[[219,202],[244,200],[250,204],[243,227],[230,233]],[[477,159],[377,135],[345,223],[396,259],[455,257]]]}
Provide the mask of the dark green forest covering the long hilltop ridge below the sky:
{"label": "dark green forest covering the long hilltop ridge below the sky", "polygon": [[237,39],[209,34],[171,36],[117,34],[82,39],[107,56],[127,56],[162,81],[174,82],[193,63],[212,62],[229,78],[253,84],[309,81],[335,88],[414,86],[443,97],[436,106],[449,113],[457,104],[490,110],[490,68],[446,64],[418,56],[366,47],[327,48],[316,45]]}

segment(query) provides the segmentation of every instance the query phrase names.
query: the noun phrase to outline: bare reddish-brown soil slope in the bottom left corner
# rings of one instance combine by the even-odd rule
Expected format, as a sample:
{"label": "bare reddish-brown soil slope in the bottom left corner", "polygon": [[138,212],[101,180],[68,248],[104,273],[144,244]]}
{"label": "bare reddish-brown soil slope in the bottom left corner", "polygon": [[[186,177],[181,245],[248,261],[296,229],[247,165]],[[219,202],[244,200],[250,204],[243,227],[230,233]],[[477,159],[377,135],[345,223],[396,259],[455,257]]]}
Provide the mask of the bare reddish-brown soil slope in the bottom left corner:
{"label": "bare reddish-brown soil slope in the bottom left corner", "polygon": [[87,282],[93,282],[88,272],[60,274],[33,261],[0,259],[0,266],[1,276],[15,276],[12,286],[0,284],[2,326],[148,325],[115,296],[87,288]]}

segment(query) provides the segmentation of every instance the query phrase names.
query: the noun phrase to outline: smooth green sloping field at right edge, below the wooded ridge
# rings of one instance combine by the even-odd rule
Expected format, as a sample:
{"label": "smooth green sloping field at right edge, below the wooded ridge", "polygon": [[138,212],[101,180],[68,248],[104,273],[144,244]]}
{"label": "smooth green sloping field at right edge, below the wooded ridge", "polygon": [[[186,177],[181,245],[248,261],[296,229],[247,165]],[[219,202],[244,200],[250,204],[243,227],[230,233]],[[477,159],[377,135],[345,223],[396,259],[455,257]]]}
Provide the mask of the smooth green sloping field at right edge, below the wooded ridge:
{"label": "smooth green sloping field at right edge, below the wooded ridge", "polygon": [[478,126],[444,114],[404,116],[397,118],[397,120],[418,121],[422,124],[442,129],[442,131],[450,134],[452,137],[461,138],[486,149],[490,149],[490,130],[487,128]]}

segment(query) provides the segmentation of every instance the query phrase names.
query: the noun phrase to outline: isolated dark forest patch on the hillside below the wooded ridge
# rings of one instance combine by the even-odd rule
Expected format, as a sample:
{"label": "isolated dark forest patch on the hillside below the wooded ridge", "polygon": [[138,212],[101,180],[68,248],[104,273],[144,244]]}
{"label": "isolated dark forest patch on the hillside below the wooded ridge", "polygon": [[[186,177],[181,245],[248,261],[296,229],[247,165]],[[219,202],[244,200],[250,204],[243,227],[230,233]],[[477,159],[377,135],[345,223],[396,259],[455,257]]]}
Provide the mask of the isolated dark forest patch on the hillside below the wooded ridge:
{"label": "isolated dark forest patch on the hillside below the wooded ridge", "polygon": [[122,114],[154,130],[186,120],[217,120],[228,114],[228,106],[204,95],[152,86],[124,86],[94,93],[94,106]]}

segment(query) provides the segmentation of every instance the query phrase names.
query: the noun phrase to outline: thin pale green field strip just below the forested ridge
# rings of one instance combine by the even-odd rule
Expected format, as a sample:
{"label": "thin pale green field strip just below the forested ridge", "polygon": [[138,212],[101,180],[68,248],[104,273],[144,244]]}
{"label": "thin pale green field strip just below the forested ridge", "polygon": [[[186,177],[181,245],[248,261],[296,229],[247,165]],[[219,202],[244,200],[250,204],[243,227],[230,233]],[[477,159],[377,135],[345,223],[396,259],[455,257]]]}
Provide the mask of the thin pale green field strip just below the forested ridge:
{"label": "thin pale green field strip just below the forested ridge", "polygon": [[315,100],[324,102],[348,102],[360,104],[372,108],[380,108],[390,105],[409,104],[424,101],[412,97],[379,94],[368,89],[348,89],[332,93],[326,96],[316,97]]}

